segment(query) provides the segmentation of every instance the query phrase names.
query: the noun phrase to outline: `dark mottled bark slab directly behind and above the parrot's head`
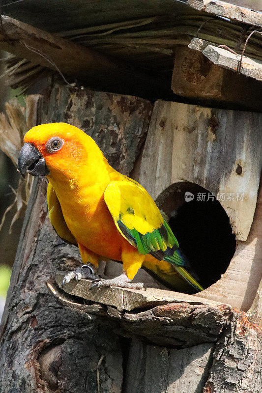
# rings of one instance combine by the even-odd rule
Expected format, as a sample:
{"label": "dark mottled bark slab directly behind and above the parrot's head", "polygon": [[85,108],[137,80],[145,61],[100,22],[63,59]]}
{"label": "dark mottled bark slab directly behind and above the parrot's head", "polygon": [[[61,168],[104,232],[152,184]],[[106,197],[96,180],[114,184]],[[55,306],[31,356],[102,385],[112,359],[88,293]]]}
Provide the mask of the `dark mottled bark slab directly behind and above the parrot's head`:
{"label": "dark mottled bark slab directly behind and above the parrot's head", "polygon": [[146,139],[152,108],[143,98],[56,85],[43,123],[65,121],[85,131],[110,165],[128,175]]}

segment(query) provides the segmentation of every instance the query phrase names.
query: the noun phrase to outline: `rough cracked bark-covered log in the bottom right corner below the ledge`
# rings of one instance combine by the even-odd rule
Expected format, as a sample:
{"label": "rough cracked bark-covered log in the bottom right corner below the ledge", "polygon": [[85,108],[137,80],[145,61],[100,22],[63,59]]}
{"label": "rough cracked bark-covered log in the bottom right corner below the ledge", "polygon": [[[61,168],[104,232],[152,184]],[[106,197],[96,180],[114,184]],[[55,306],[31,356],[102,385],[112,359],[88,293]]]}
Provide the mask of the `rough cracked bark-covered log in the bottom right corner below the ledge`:
{"label": "rough cracked bark-covered log in the bottom right corner below the ledge", "polygon": [[204,392],[261,392],[262,332],[238,314],[216,343]]}

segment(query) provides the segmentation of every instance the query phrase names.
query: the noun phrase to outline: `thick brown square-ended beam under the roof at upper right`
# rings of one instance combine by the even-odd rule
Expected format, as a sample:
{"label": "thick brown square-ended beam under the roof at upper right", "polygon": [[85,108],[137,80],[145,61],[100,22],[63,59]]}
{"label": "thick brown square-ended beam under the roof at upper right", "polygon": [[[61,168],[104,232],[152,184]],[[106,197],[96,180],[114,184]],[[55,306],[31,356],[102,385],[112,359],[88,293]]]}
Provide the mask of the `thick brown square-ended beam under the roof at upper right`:
{"label": "thick brown square-ended beam under the roof at upper right", "polygon": [[172,76],[174,93],[196,98],[201,105],[221,107],[223,104],[226,108],[261,112],[260,84],[244,75],[213,64],[200,53],[209,44],[212,45],[208,41],[194,38],[188,48],[177,46]]}

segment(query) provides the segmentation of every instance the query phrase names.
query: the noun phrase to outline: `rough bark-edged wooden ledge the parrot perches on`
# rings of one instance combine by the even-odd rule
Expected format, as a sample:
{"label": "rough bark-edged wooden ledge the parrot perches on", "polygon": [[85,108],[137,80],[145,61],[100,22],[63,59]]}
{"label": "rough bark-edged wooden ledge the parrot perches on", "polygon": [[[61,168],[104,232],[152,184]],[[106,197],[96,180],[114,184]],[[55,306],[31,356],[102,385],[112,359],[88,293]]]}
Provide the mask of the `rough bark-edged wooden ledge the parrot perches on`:
{"label": "rough bark-edged wooden ledge the parrot perches on", "polygon": [[[56,276],[59,286],[62,277],[62,274]],[[62,305],[78,312],[118,320],[122,334],[146,337],[158,345],[188,347],[214,342],[233,313],[229,305],[177,292],[153,288],[146,291],[122,288],[90,291],[91,281],[88,280],[71,281],[71,284],[65,284],[63,291],[56,281],[48,281],[47,287]],[[73,300],[76,299],[74,296],[92,301],[81,304],[78,303],[80,298]],[[125,309],[120,309],[123,304]]]}

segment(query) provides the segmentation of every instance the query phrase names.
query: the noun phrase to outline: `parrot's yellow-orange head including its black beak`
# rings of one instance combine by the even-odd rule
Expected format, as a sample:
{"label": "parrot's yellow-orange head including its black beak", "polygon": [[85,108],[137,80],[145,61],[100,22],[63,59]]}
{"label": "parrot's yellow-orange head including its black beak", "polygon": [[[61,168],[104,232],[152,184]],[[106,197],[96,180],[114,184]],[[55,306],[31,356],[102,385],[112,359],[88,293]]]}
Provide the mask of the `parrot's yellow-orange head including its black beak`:
{"label": "parrot's yellow-orange head including its black beak", "polygon": [[33,127],[24,138],[18,157],[22,176],[45,176],[51,173],[70,175],[72,168],[96,161],[102,152],[84,131],[66,123],[50,123]]}

